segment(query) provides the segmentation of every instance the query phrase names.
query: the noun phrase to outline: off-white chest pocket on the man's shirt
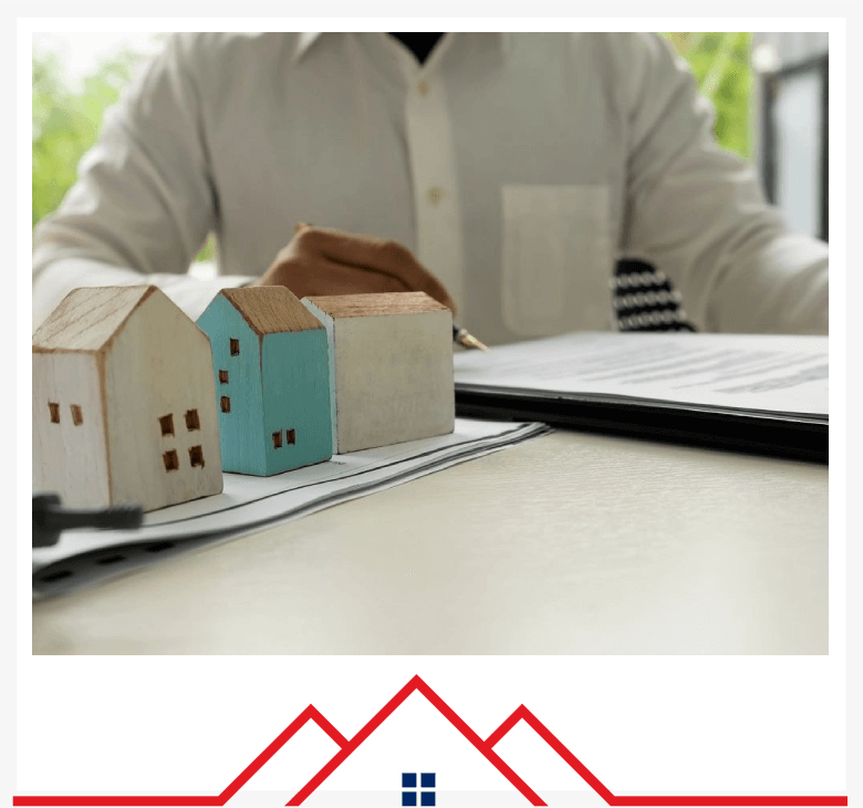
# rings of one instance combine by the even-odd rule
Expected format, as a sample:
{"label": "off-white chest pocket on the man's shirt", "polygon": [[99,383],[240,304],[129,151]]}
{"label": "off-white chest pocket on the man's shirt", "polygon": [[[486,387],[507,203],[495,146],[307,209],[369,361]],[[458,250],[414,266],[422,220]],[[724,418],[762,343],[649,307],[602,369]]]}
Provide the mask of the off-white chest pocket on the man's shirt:
{"label": "off-white chest pocket on the man's shirt", "polygon": [[607,330],[607,185],[505,185],[503,320],[517,334]]}

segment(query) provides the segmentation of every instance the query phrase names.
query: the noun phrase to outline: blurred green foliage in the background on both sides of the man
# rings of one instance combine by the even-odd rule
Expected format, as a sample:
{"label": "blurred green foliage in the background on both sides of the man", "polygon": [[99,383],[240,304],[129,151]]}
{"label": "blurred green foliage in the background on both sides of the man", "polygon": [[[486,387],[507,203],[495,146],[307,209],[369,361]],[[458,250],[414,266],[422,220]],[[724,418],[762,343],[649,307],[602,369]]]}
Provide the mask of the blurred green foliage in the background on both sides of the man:
{"label": "blurred green foliage in the background on both sides of the man", "polygon": [[[749,158],[751,33],[666,33],[689,63],[699,90],[716,108],[719,145]],[[77,164],[96,142],[105,110],[144,59],[125,51],[104,61],[72,91],[54,55],[33,56],[33,219],[32,226],[56,209],[77,178]],[[209,260],[210,237],[196,260]]]}

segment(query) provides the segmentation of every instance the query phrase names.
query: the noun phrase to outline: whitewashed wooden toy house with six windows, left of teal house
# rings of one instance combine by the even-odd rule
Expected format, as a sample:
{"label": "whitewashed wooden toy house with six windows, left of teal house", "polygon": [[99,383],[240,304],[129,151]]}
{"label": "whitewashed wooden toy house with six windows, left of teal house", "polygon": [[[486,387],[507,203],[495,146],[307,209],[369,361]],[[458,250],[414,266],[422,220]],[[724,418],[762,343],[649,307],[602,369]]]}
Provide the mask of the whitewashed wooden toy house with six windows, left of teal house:
{"label": "whitewashed wooden toy house with six windows, left of teal house", "polygon": [[154,510],[222,489],[207,335],[156,287],[71,291],[33,334],[33,490]]}

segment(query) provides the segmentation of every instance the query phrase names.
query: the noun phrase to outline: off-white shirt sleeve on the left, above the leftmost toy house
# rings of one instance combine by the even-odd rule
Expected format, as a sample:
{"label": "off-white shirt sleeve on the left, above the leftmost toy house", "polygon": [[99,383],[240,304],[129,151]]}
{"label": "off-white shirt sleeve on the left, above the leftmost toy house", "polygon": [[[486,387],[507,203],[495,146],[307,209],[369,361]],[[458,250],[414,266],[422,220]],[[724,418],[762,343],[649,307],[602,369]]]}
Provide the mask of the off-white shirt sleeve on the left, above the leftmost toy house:
{"label": "off-white shirt sleeve on the left, above the leftmost toy house", "polygon": [[105,113],[63,203],[33,231],[33,329],[76,287],[162,288],[190,317],[251,277],[187,273],[216,229],[194,40],[174,35]]}

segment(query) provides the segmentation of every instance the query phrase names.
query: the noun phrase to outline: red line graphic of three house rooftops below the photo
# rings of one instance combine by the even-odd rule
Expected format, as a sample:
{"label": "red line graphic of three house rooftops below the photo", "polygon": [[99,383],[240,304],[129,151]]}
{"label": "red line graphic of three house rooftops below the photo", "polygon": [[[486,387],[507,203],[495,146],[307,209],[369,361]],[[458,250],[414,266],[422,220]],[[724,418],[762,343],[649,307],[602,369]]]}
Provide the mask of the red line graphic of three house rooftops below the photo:
{"label": "red line graphic of three house rooftops below the photo", "polygon": [[470,725],[456,713],[419,674],[414,674],[381,709],[350,740],[344,737],[315,707],[306,706],[284,729],[282,729],[254,759],[231,780],[230,785],[215,797],[33,797],[19,796],[12,798],[13,806],[223,806],[239,791],[258,771],[266,766],[273,755],[282,748],[305,723],[313,721],[332,742],[339,752],[321,767],[287,804],[299,806],[305,798],[336,769],[381,724],[383,724],[405,698],[414,691],[419,691],[437,709],[456,727],[485,757],[498,769],[531,805],[544,806],[539,796],[524,780],[498,755],[493,747],[520,721],[523,721],[539,735],[596,794],[610,806],[846,806],[848,797],[616,797],[579,760],[551,731],[531,713],[523,704],[519,704],[487,738],[481,738]]}

